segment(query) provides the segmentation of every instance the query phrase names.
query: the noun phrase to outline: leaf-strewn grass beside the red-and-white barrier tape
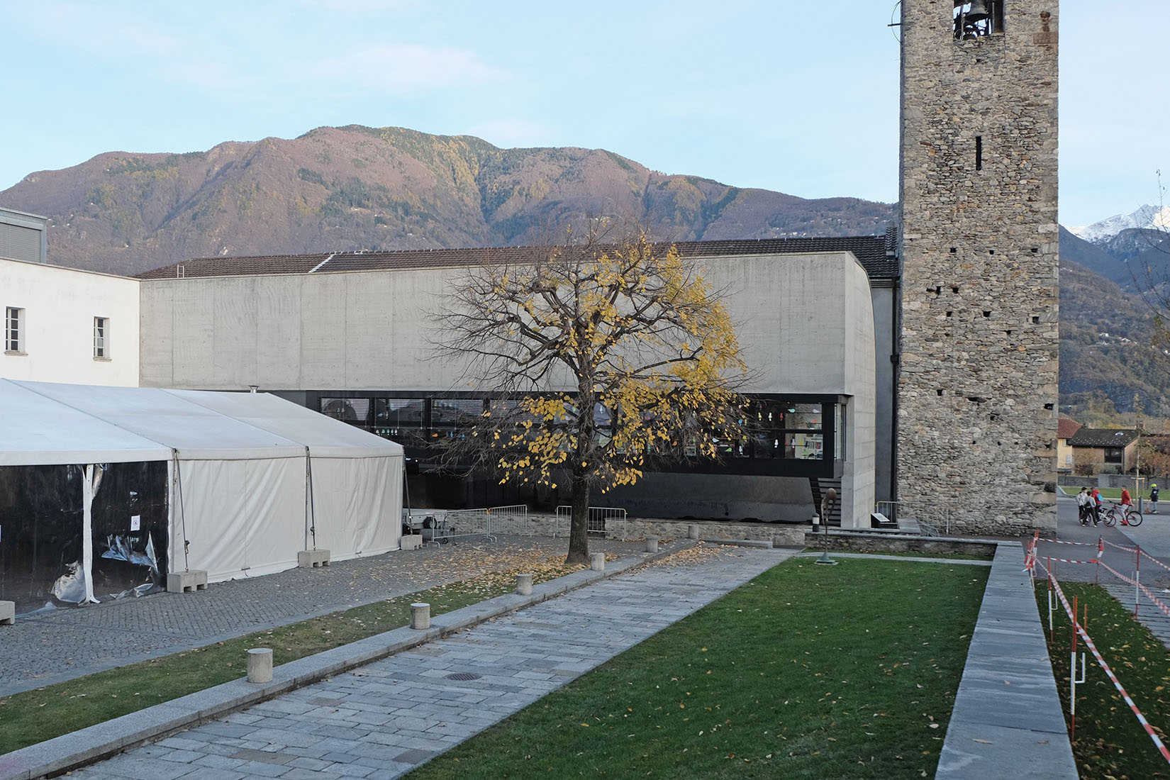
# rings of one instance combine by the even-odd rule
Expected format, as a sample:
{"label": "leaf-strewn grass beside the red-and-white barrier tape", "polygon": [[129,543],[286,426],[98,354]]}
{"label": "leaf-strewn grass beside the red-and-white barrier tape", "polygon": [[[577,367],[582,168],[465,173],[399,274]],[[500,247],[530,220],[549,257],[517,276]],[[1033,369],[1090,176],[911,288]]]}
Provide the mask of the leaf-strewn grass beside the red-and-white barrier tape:
{"label": "leaf-strewn grass beside the red-and-white barrier tape", "polygon": [[[1081,582],[1061,582],[1060,588],[1069,603],[1076,596],[1082,622],[1093,637],[1093,644],[1158,737],[1166,741],[1166,734],[1162,731],[1170,723],[1170,698],[1166,696],[1170,654],[1166,647],[1134,619],[1131,609],[1119,603],[1104,588]],[[1035,594],[1040,614],[1047,614],[1047,585],[1038,582]],[[1152,605],[1142,608],[1156,609]],[[1048,655],[1067,723],[1073,627],[1059,602],[1057,609]],[[1082,778],[1116,780],[1170,778],[1170,765],[1162,758],[1093,654],[1080,642],[1078,650],[1086,654],[1085,684],[1076,686],[1076,733],[1073,740],[1073,758],[1076,759],[1079,774]]]}

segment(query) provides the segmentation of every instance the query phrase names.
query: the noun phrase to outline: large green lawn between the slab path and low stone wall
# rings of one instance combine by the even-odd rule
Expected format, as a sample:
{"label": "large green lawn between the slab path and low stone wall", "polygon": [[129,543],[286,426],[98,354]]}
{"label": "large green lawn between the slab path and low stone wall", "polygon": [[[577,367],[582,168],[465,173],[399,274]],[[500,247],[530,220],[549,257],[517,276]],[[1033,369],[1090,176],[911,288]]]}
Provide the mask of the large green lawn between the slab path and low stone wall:
{"label": "large green lawn between the slab path and low stone wall", "polygon": [[934,776],[987,574],[791,559],[406,776]]}

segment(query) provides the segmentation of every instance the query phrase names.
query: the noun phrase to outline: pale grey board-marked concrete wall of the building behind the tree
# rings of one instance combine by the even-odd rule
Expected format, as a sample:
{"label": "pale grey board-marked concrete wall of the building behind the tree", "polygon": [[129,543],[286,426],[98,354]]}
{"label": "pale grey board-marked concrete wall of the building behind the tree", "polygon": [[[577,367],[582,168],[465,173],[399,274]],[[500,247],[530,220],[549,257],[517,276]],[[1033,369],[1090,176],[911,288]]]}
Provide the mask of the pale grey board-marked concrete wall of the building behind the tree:
{"label": "pale grey board-marked concrete wall of the building behind the tree", "polygon": [[[746,392],[845,399],[842,518],[846,526],[868,527],[875,370],[865,269],[847,253],[737,255],[700,263],[738,325],[756,374]],[[142,384],[255,385],[285,396],[322,389],[490,391],[469,385],[457,363],[433,359],[431,341],[438,334],[431,313],[441,310],[443,292],[466,272],[431,268],[143,281]],[[724,483],[723,490],[729,488],[718,503],[769,503],[758,486]]]}

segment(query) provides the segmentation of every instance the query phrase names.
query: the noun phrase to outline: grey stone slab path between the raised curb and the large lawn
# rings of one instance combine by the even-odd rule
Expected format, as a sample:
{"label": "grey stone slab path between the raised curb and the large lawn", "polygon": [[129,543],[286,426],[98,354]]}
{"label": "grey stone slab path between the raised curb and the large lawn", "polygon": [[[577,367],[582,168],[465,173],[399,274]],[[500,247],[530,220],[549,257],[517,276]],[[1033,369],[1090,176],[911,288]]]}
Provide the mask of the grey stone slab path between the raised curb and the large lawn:
{"label": "grey stone slab path between the raised curb and the large lawn", "polygon": [[714,548],[687,562],[668,558],[70,776],[397,778],[791,554]]}

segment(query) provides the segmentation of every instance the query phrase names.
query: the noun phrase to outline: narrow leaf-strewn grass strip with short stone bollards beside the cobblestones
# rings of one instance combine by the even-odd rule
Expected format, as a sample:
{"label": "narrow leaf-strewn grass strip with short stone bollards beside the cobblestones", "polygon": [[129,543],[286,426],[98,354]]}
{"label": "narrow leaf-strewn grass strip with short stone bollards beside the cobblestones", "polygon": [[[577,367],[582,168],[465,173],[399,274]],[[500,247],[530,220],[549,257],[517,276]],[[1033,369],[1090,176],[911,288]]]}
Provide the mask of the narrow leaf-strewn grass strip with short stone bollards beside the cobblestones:
{"label": "narrow leaf-strewn grass strip with short stone bollards beside the cobblestones", "polygon": [[[525,564],[523,571],[543,582],[580,568],[557,557]],[[516,571],[494,572],[6,696],[0,698],[0,754],[245,677],[249,648],[273,648],[274,664],[288,663],[401,628],[414,601],[428,602],[431,614],[440,615],[515,587]]]}

